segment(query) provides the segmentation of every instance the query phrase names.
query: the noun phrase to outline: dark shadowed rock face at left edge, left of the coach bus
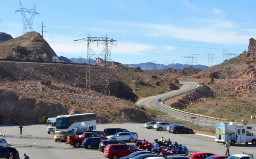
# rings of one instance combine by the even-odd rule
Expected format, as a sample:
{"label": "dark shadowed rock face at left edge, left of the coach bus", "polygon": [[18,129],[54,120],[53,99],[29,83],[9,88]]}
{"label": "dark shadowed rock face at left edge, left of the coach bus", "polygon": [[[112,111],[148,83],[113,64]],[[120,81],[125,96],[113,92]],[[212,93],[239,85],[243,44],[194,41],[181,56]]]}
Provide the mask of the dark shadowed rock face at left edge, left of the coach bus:
{"label": "dark shadowed rock face at left edge, left of the coach bus", "polygon": [[59,103],[18,96],[10,90],[0,90],[1,124],[37,124],[40,116],[55,117],[67,112],[68,108]]}

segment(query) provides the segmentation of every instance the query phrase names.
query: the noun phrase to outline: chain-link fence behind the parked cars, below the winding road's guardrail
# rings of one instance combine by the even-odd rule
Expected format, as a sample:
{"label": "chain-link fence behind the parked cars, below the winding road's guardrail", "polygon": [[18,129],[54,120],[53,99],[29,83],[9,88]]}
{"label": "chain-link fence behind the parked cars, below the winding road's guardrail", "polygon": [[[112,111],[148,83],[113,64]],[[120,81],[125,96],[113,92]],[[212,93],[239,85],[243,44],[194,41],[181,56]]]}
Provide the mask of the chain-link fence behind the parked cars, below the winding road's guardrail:
{"label": "chain-link fence behind the parked cars, below the winding road's guardrail", "polygon": [[168,122],[170,124],[184,125],[194,130],[205,131],[208,133],[215,134],[215,125],[220,124],[220,122],[216,121],[205,121],[198,119],[187,119],[187,118],[179,118],[174,116],[163,116],[156,115],[157,122]]}

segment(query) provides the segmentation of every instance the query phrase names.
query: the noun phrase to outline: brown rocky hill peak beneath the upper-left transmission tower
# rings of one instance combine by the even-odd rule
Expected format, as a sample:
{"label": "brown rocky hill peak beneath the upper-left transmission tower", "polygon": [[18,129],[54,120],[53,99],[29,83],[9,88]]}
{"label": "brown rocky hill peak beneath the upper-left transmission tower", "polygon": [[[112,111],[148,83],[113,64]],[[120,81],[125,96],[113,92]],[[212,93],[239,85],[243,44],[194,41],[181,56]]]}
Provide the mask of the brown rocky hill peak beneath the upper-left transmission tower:
{"label": "brown rocky hill peak beneath the upper-left transmission tower", "polygon": [[43,61],[43,54],[47,54],[46,60],[52,60],[53,56],[57,56],[47,41],[37,32],[28,32],[23,36],[3,41],[0,43],[0,58]]}

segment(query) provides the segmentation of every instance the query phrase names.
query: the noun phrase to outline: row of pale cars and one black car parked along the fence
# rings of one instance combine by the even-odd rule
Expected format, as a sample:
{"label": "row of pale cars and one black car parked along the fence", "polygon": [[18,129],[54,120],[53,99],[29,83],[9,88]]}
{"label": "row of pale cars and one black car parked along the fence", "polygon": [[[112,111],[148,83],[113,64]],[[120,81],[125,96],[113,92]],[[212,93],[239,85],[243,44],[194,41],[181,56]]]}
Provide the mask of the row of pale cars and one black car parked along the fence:
{"label": "row of pale cars and one black car parked along the fence", "polygon": [[194,130],[183,125],[170,124],[167,122],[150,121],[144,124],[148,129],[156,129],[157,131],[168,130],[169,133],[194,133]]}

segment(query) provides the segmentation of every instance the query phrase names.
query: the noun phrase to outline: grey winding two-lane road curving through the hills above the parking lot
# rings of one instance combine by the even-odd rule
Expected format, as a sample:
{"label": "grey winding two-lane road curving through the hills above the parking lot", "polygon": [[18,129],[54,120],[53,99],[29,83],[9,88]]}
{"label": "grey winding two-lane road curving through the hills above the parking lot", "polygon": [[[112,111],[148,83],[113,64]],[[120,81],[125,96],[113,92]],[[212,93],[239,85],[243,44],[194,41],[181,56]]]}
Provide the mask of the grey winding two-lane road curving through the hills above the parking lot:
{"label": "grey winding two-lane road curving through the hills above the parking lot", "polygon": [[[199,87],[199,85],[196,82],[180,82],[180,84],[182,84],[182,87],[179,90],[174,90],[174,91],[164,93],[164,94],[161,94],[161,95],[156,95],[156,96],[152,96],[152,97],[143,98],[143,99],[137,101],[136,105],[151,107],[151,108],[169,113],[171,116],[175,116],[175,117],[178,117],[178,118],[185,118],[186,117],[186,119],[191,119],[191,117],[195,117],[195,116],[188,115],[188,114],[185,114],[185,113],[180,113],[180,112],[177,112],[175,110],[171,110],[169,108],[164,107],[161,104],[162,102],[157,101],[158,98],[161,98],[162,100],[164,100],[164,99],[169,98],[171,96],[174,96],[174,95],[177,95],[177,94],[180,94],[180,93],[185,93],[185,92],[188,92],[190,90],[194,90],[195,88]],[[214,122],[219,123],[219,121],[217,121],[217,120],[201,118],[201,117],[198,117],[198,116],[196,116],[196,119],[199,119],[199,120],[202,120],[202,121],[207,121],[207,123],[209,122],[209,124],[214,123]]]}

